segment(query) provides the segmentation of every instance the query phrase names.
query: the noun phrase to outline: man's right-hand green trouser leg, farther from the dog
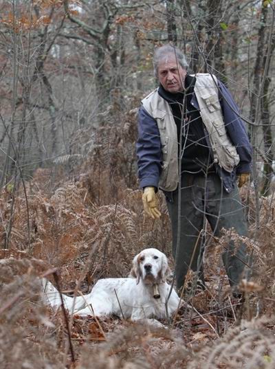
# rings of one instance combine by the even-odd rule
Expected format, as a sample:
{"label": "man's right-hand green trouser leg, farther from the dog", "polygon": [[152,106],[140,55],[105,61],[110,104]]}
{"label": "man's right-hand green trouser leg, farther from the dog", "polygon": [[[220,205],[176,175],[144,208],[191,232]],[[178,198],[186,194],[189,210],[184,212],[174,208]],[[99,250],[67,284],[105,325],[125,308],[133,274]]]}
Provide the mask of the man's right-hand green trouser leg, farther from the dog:
{"label": "man's right-hand green trouser leg, farther from the dog", "polygon": [[[243,205],[238,188],[229,194],[223,190],[221,180],[217,175],[211,175],[206,193],[206,214],[215,235],[221,234],[222,228],[234,229],[236,234],[247,236],[248,227],[243,213]],[[222,254],[223,264],[232,287],[239,283],[244,275],[245,265],[248,265],[248,254],[244,243],[235,245],[230,240]]]}

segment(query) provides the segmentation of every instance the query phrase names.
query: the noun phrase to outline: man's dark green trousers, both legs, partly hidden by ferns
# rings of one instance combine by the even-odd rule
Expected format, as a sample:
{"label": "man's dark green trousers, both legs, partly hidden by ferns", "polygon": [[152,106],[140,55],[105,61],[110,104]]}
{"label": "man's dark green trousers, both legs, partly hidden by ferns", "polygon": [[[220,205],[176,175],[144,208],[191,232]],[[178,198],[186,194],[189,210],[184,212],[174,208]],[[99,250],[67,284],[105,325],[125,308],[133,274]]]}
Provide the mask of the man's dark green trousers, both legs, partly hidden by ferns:
{"label": "man's dark green trousers, both legs, partly hidden by ferns", "polygon": [[[248,227],[243,214],[243,206],[238,188],[228,194],[223,189],[221,179],[216,173],[203,175],[183,175],[181,177],[181,212],[180,234],[177,247],[179,192],[166,193],[166,203],[170,215],[173,236],[173,256],[175,259],[175,278],[177,289],[184,285],[189,266],[203,278],[203,236],[199,237],[205,227],[206,219],[210,223],[214,236],[221,234],[222,228],[234,228],[241,236],[247,236]],[[245,245],[234,247],[230,241],[222,254],[223,265],[229,282],[235,287],[243,277],[248,254]]]}

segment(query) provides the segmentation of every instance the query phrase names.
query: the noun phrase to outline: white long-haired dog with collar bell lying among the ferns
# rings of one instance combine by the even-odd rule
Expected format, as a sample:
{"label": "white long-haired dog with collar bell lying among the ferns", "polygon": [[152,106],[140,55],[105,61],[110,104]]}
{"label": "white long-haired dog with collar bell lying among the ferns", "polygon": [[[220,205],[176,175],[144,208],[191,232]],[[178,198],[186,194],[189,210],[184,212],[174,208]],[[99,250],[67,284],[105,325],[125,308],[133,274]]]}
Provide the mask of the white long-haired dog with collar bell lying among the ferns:
{"label": "white long-haired dog with collar bell lying among the ferns", "polygon": [[[157,249],[144,249],[133,259],[130,278],[106,278],[96,282],[88,295],[63,294],[65,308],[71,314],[104,316],[115,314],[131,320],[164,318],[176,311],[179,296],[166,282],[169,273],[166,256]],[[158,287],[158,295],[154,286]],[[61,296],[43,279],[44,298],[57,309]],[[169,295],[170,294],[170,295]]]}

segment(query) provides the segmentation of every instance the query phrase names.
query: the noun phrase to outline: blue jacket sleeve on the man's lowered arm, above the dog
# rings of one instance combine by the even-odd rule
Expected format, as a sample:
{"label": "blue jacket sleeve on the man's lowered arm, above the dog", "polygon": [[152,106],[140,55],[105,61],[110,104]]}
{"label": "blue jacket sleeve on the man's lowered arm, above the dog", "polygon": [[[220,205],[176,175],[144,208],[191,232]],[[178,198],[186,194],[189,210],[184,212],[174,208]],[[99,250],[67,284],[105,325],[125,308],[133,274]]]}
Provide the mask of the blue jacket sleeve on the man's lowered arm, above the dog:
{"label": "blue jacket sleeve on the man's lowered arm, above the dog", "polygon": [[162,150],[156,120],[141,107],[138,113],[138,138],[136,144],[140,187],[158,188],[162,170]]}

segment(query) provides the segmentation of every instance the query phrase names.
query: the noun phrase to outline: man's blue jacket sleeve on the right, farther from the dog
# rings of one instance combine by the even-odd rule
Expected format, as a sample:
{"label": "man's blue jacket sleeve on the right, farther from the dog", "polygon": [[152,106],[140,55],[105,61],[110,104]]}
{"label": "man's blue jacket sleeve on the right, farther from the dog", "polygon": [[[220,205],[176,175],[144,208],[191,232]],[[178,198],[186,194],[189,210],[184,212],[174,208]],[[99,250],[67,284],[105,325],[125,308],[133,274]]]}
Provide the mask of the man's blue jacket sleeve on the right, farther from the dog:
{"label": "man's blue jacket sleeve on the right, farther from the dog", "polygon": [[219,98],[221,109],[223,110],[225,128],[240,157],[240,162],[236,167],[236,174],[250,173],[252,146],[248,139],[248,133],[246,132],[243,120],[241,120],[239,109],[236,106],[231,93],[221,81],[219,81]]}

